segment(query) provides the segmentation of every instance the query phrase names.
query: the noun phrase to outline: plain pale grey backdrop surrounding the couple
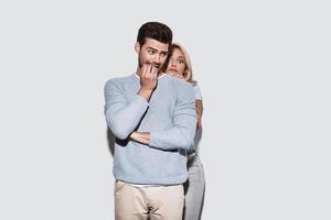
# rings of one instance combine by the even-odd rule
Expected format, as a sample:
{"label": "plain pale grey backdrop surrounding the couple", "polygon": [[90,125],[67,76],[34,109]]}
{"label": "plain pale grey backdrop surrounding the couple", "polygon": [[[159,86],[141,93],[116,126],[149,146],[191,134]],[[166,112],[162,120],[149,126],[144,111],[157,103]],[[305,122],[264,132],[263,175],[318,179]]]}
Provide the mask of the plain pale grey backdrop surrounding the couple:
{"label": "plain pale grey backdrop surrounding the couple", "polygon": [[204,98],[203,219],[331,219],[328,1],[1,1],[0,219],[113,219],[103,88],[167,23]]}

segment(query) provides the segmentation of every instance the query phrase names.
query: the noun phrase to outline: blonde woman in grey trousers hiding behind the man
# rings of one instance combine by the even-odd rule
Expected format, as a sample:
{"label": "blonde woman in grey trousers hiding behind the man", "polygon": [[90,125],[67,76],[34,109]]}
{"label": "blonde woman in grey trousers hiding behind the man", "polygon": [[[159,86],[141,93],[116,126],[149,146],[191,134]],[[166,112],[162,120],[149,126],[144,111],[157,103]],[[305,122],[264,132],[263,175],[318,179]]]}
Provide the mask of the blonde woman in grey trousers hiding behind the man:
{"label": "blonde woman in grey trousers hiding behind the man", "polygon": [[[195,91],[195,108],[196,108],[196,138],[200,138],[202,131],[201,118],[202,118],[202,96],[196,81],[193,80],[192,66],[189,54],[184,47],[178,43],[173,43],[170,48],[170,55],[168,63],[166,64],[166,73],[177,78],[186,80],[192,84]],[[195,143],[195,147],[196,147]],[[185,208],[184,220],[200,219],[203,199],[204,199],[204,172],[202,163],[196,154],[196,150],[188,152],[188,170],[189,179],[184,185],[185,188]]]}

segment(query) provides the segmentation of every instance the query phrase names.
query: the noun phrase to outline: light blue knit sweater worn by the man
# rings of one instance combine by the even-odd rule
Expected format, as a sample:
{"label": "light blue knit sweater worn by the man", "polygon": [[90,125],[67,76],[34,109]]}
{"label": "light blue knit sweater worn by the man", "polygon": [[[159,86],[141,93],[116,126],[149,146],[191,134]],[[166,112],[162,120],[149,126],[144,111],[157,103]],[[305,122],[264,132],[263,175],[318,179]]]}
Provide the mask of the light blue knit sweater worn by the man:
{"label": "light blue knit sweater worn by the man", "polygon": [[[174,185],[188,178],[186,150],[194,143],[196,112],[193,87],[169,75],[158,79],[149,102],[137,95],[137,75],[105,86],[105,114],[117,138],[116,179],[142,185]],[[150,132],[149,147],[126,139],[132,131]]]}

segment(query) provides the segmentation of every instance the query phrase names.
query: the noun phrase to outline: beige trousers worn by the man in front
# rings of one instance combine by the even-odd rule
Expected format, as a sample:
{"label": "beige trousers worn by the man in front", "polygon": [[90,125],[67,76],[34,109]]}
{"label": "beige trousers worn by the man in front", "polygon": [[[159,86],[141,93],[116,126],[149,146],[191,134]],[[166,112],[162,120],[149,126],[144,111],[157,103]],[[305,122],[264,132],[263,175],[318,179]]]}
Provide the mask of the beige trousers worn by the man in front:
{"label": "beige trousers worn by the man in front", "polygon": [[115,183],[116,220],[181,220],[184,206],[182,185],[135,187]]}

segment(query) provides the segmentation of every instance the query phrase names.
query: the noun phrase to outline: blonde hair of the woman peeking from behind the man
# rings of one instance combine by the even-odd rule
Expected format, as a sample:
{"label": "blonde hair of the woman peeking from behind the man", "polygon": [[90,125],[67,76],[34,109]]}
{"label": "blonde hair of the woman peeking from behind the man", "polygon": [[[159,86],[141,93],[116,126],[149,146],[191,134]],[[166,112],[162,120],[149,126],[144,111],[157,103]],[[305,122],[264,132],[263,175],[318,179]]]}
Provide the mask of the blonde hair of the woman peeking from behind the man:
{"label": "blonde hair of the woman peeking from behind the man", "polygon": [[169,57],[168,57],[168,62],[167,64],[164,65],[166,68],[169,64],[169,59],[171,57],[171,54],[173,52],[174,48],[178,48],[180,50],[183,55],[184,55],[184,59],[185,59],[185,69],[184,69],[184,73],[183,73],[183,78],[185,81],[192,84],[193,86],[196,85],[196,81],[193,80],[193,70],[192,70],[192,64],[191,64],[191,59],[190,59],[190,56],[189,56],[189,53],[186,52],[186,50],[179,43],[172,43],[171,44],[171,47],[170,47],[170,54],[169,54]]}

